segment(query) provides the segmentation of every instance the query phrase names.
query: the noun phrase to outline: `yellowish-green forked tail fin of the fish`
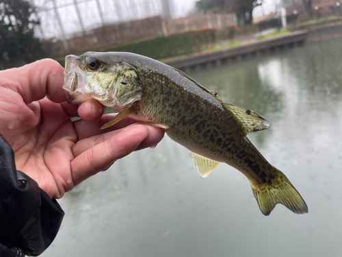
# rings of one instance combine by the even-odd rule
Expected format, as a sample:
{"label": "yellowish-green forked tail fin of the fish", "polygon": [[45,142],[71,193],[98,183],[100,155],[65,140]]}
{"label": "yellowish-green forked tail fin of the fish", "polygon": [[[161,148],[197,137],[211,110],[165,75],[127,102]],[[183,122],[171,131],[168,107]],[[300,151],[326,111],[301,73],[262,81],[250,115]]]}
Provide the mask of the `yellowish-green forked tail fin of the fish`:
{"label": "yellowish-green forked tail fin of the fish", "polygon": [[276,169],[276,176],[267,184],[252,184],[252,191],[263,215],[269,215],[276,204],[282,204],[296,214],[308,212],[308,206],[286,176]]}

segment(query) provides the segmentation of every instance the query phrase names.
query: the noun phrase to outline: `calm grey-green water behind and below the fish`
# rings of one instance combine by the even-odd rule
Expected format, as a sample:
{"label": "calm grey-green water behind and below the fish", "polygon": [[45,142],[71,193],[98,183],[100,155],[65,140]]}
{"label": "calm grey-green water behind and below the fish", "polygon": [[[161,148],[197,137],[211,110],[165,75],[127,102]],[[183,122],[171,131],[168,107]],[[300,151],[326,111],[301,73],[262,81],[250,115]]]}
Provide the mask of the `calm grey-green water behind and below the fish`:
{"label": "calm grey-green water behind and below the fish", "polygon": [[189,73],[272,122],[248,135],[308,204],[264,217],[227,164],[201,178],[166,136],[60,200],[66,217],[43,257],[342,256],[342,40]]}

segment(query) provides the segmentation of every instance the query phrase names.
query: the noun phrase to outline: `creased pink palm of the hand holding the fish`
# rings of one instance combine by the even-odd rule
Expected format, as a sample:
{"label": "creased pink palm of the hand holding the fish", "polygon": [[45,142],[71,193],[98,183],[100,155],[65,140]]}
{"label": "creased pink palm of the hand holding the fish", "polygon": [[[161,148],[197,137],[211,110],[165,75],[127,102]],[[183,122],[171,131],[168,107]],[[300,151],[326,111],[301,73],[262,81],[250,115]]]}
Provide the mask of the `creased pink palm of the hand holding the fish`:
{"label": "creased pink palm of the hand holding the fish", "polygon": [[2,132],[14,150],[16,169],[36,180],[51,197],[62,197],[73,188],[70,163],[77,142],[73,123],[62,104],[42,99],[5,114],[9,114],[5,119],[8,131]]}

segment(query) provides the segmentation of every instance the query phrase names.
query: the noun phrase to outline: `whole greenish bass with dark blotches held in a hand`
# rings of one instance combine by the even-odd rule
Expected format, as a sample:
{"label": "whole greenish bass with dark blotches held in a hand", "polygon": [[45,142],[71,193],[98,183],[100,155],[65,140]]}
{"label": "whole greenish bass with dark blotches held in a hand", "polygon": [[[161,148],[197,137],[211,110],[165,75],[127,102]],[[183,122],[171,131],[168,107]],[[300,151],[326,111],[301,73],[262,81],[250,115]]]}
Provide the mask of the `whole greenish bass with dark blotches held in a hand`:
{"label": "whole greenish bass with dark blotches held in a hand", "polygon": [[308,212],[285,174],[248,140],[248,133],[271,125],[257,112],[226,103],[183,71],[135,53],[69,55],[65,65],[68,103],[94,98],[118,111],[101,129],[125,117],[161,127],[189,149],[202,177],[222,162],[243,173],[263,215],[269,215],[276,204],[296,214]]}

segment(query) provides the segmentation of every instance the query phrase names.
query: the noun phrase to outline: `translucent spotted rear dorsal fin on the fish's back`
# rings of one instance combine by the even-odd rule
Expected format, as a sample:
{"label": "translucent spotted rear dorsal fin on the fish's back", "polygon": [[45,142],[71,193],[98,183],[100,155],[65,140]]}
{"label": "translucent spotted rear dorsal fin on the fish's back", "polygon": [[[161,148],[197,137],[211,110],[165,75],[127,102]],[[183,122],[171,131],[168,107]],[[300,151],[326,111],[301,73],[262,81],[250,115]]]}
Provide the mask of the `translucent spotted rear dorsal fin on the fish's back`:
{"label": "translucent spotted rear dorsal fin on the fish's back", "polygon": [[257,114],[257,112],[253,112],[252,110],[241,108],[239,106],[225,102],[222,102],[222,106],[227,111],[233,112],[233,114],[235,114],[235,117],[237,117],[244,127],[246,134],[259,130],[267,130],[267,128],[269,128],[271,125],[269,120]]}

